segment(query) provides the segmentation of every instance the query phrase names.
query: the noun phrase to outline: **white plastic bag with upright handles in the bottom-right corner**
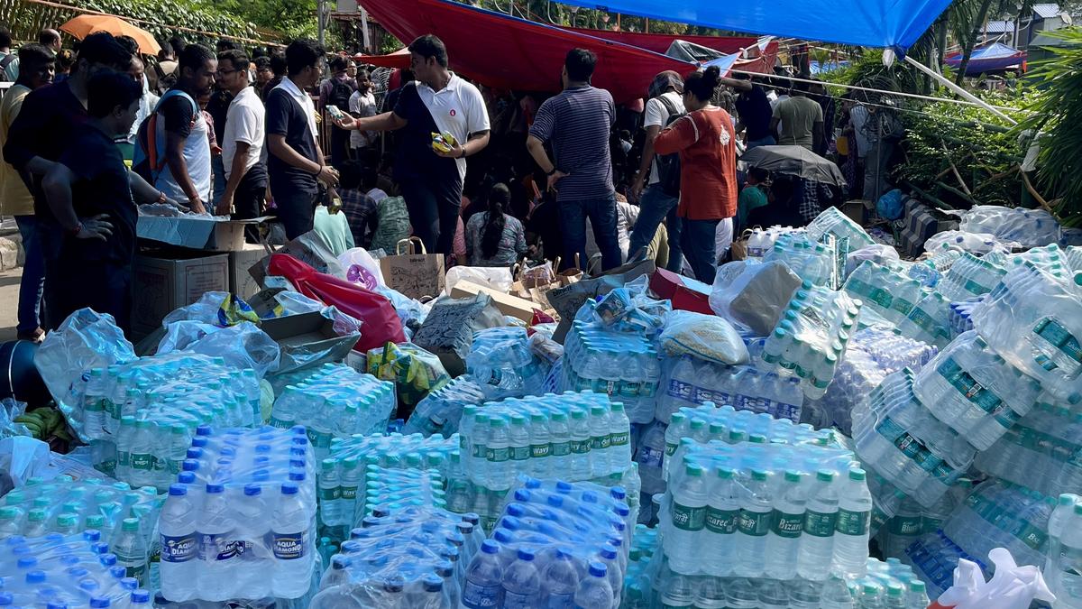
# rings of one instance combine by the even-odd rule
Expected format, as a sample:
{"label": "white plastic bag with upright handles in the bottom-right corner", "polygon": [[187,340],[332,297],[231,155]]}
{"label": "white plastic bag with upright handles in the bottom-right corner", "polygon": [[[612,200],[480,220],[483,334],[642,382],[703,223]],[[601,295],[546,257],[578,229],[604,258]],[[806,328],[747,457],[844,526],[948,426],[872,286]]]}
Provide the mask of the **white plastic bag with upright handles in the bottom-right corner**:
{"label": "white plastic bag with upright handles in the bottom-right corner", "polygon": [[1034,598],[1056,600],[1037,567],[1017,566],[1002,547],[989,552],[988,558],[995,565],[995,574],[988,582],[977,563],[960,558],[954,585],[939,596],[939,605],[955,609],[1027,609]]}

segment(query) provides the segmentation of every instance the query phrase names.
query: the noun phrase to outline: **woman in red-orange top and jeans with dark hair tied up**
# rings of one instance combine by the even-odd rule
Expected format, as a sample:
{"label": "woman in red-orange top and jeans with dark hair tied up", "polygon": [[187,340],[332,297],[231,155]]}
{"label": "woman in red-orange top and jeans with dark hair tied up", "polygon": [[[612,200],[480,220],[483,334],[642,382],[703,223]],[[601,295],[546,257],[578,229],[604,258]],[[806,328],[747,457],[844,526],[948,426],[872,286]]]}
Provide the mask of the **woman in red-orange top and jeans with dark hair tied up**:
{"label": "woman in red-orange top and jeans with dark hair tied up", "polygon": [[[679,153],[679,205],[684,220],[681,244],[695,278],[714,283],[718,224],[737,212],[737,153],[733,117],[710,103],[721,83],[721,72],[711,66],[684,80],[684,107],[688,114],[673,121],[654,140],[657,154]],[[724,229],[724,226],[723,226]]]}

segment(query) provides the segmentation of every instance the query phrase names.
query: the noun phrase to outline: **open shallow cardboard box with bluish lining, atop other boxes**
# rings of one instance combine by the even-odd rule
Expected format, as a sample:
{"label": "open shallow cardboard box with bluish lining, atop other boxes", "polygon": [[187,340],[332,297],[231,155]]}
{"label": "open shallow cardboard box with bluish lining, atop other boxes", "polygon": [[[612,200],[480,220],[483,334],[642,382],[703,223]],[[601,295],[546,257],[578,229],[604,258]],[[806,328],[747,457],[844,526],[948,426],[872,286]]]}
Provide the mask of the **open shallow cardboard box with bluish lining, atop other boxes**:
{"label": "open shallow cardboard box with bluish lining, atop other boxes", "polygon": [[206,251],[239,251],[245,247],[245,226],[267,219],[215,220],[207,216],[140,216],[138,238]]}

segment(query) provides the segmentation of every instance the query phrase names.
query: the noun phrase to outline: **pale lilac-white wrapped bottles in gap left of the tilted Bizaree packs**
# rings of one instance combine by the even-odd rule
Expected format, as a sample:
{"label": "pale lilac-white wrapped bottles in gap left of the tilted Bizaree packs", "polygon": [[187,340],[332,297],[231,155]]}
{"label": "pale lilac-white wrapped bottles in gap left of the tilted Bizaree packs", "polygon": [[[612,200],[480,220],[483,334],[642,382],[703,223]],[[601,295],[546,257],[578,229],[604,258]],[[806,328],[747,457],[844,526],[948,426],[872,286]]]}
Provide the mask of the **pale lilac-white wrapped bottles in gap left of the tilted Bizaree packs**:
{"label": "pale lilac-white wrapped bottles in gap left of the tilted Bizaree packs", "polygon": [[857,332],[837,365],[834,380],[818,401],[805,405],[802,420],[816,427],[837,427],[853,431],[855,412],[867,409],[869,396],[883,379],[903,367],[921,370],[937,349],[894,332],[872,326]]}

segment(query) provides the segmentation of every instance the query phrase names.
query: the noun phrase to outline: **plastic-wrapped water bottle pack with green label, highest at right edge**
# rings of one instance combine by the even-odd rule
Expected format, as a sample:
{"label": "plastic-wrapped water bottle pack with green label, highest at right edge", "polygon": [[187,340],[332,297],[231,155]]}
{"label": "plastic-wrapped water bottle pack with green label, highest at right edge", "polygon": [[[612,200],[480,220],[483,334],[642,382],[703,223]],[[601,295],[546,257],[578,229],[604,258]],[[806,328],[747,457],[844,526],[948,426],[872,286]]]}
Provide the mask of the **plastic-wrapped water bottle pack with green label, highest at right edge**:
{"label": "plastic-wrapped water bottle pack with green label, highest at right edge", "polygon": [[1003,359],[1060,400],[1082,402],[1082,273],[1026,262],[974,308],[973,327]]}

